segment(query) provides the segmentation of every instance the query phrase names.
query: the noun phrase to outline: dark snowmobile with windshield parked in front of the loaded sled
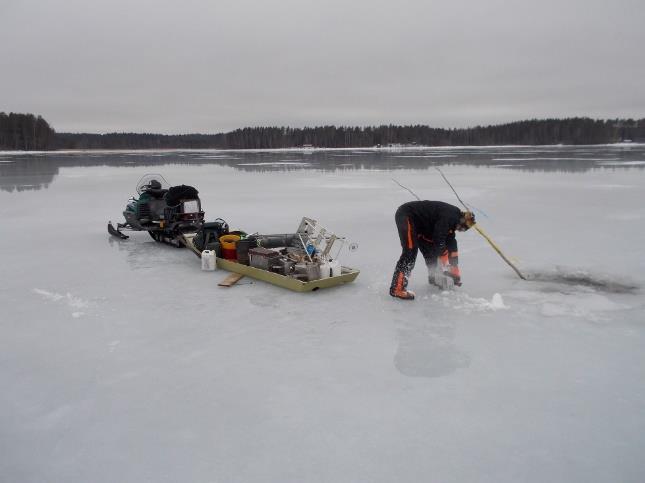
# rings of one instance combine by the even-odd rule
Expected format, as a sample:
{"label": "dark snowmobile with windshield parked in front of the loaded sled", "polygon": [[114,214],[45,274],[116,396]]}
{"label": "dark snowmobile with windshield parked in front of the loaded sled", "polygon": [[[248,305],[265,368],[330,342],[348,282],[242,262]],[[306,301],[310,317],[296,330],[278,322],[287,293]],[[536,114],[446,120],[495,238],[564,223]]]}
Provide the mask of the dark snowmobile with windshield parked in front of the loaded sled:
{"label": "dark snowmobile with windshield parked in front of the loaded sled", "polygon": [[124,223],[108,222],[108,233],[127,239],[122,230],[147,231],[153,240],[182,247],[184,235],[204,224],[198,191],[192,186],[170,186],[160,174],[146,174],[138,182],[138,198],[131,197],[123,211]]}

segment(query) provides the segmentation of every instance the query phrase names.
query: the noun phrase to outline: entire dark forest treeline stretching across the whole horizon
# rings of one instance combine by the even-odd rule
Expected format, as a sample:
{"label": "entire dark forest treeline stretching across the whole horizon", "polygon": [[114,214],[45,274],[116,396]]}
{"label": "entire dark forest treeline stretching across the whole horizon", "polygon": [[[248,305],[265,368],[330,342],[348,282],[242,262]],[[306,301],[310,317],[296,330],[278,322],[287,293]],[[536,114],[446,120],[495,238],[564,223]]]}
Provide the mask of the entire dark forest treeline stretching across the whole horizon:
{"label": "entire dark forest treeline stretching across the whole horizon", "polygon": [[42,117],[0,112],[0,149],[270,149],[416,144],[490,146],[645,142],[645,119],[533,119],[495,126],[247,127],[220,134],[56,133]]}

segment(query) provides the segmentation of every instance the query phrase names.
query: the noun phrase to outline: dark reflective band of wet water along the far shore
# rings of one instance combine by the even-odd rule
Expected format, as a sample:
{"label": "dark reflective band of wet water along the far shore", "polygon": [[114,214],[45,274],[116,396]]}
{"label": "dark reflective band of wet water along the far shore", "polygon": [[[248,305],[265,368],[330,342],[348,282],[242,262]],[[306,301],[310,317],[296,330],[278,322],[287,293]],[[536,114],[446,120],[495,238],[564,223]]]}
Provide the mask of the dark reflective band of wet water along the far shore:
{"label": "dark reflective band of wet water along the far shore", "polygon": [[643,169],[645,145],[403,148],[314,151],[0,152],[0,189],[47,188],[60,168],[79,166],[229,166],[242,171],[407,170],[471,165],[527,172]]}

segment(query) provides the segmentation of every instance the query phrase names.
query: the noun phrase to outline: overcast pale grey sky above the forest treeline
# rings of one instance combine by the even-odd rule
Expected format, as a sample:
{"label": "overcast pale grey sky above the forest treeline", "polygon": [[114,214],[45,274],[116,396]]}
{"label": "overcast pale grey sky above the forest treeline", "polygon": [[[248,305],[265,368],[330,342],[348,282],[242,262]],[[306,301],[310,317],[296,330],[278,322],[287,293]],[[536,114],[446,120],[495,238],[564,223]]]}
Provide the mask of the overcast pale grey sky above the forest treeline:
{"label": "overcast pale grey sky above the forest treeline", "polygon": [[0,111],[57,131],[645,117],[643,0],[0,0]]}

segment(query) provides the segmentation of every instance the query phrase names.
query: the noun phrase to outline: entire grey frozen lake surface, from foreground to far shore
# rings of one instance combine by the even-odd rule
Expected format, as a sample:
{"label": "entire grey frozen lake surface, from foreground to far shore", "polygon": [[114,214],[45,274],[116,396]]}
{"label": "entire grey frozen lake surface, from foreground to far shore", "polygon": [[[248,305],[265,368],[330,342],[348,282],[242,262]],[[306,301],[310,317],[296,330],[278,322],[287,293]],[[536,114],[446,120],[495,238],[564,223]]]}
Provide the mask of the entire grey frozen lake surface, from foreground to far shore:
{"label": "entire grey frozen lake surface, from foreground to far shore", "polygon": [[[394,211],[479,211],[389,297]],[[645,146],[0,153],[0,481],[642,482]],[[108,236],[145,173],[208,220],[358,243],[350,285],[217,286]]]}

